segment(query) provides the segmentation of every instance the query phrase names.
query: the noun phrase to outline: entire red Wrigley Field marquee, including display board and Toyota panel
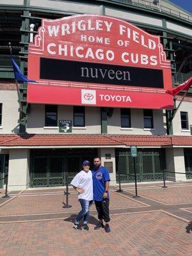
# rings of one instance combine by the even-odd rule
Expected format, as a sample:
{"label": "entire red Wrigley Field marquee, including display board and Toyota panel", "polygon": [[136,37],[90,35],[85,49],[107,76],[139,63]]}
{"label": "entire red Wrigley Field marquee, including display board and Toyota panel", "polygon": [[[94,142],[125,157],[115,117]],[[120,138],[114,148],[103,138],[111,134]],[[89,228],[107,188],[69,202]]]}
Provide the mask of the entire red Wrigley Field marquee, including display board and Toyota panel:
{"label": "entire red Wrigley Field marquee, including display board and Toyota panel", "polygon": [[38,82],[28,84],[31,103],[173,107],[165,93],[172,84],[170,61],[159,36],[112,17],[42,19],[29,44],[28,78]]}

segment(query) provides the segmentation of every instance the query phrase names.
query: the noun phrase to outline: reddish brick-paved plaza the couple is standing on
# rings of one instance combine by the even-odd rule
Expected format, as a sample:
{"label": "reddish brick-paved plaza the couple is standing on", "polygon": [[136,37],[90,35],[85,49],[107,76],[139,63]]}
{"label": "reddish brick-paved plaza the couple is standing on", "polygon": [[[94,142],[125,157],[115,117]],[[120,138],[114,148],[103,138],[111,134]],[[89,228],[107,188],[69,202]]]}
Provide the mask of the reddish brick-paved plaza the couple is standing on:
{"label": "reddish brick-paved plaza the couple is standing on", "polygon": [[[192,182],[134,184],[111,188],[111,232],[73,228],[80,205],[70,188],[9,191],[0,197],[0,256],[159,256],[192,255]],[[1,195],[1,194],[0,194]]]}

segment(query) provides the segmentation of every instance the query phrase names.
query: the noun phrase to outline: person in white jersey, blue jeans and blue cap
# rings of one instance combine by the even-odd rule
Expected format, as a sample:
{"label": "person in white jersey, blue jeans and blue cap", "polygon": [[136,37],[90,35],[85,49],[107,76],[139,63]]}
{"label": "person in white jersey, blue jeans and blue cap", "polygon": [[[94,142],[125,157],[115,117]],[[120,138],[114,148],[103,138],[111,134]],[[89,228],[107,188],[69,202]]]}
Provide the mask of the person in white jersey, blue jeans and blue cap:
{"label": "person in white jersey, blue jeans and blue cap", "polygon": [[72,182],[70,182],[74,189],[78,193],[78,200],[81,204],[81,211],[77,215],[76,221],[74,223],[74,228],[76,230],[81,230],[79,223],[81,218],[84,218],[83,228],[84,230],[89,230],[87,225],[90,218],[89,209],[93,203],[93,179],[92,172],[90,171],[90,162],[87,160],[83,161],[83,170],[74,177]]}

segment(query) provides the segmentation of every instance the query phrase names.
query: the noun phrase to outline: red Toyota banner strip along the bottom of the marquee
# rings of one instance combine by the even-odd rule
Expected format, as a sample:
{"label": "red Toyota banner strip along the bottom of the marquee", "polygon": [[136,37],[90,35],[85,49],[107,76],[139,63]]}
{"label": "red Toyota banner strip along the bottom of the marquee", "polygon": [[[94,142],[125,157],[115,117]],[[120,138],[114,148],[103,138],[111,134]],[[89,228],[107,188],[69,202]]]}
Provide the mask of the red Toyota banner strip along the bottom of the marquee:
{"label": "red Toyota banner strip along the bottom of the marquee", "polygon": [[[166,97],[165,97],[166,96]],[[28,84],[28,102],[116,108],[170,109],[172,95]]]}

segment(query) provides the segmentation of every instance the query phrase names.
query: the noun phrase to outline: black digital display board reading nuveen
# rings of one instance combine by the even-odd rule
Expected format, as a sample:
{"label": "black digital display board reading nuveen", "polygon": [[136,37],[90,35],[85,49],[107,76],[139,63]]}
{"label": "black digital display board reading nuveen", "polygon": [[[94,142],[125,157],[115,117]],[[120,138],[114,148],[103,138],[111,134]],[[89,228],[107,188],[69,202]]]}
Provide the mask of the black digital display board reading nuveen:
{"label": "black digital display board reading nuveen", "polygon": [[164,88],[163,70],[40,58],[40,79]]}

